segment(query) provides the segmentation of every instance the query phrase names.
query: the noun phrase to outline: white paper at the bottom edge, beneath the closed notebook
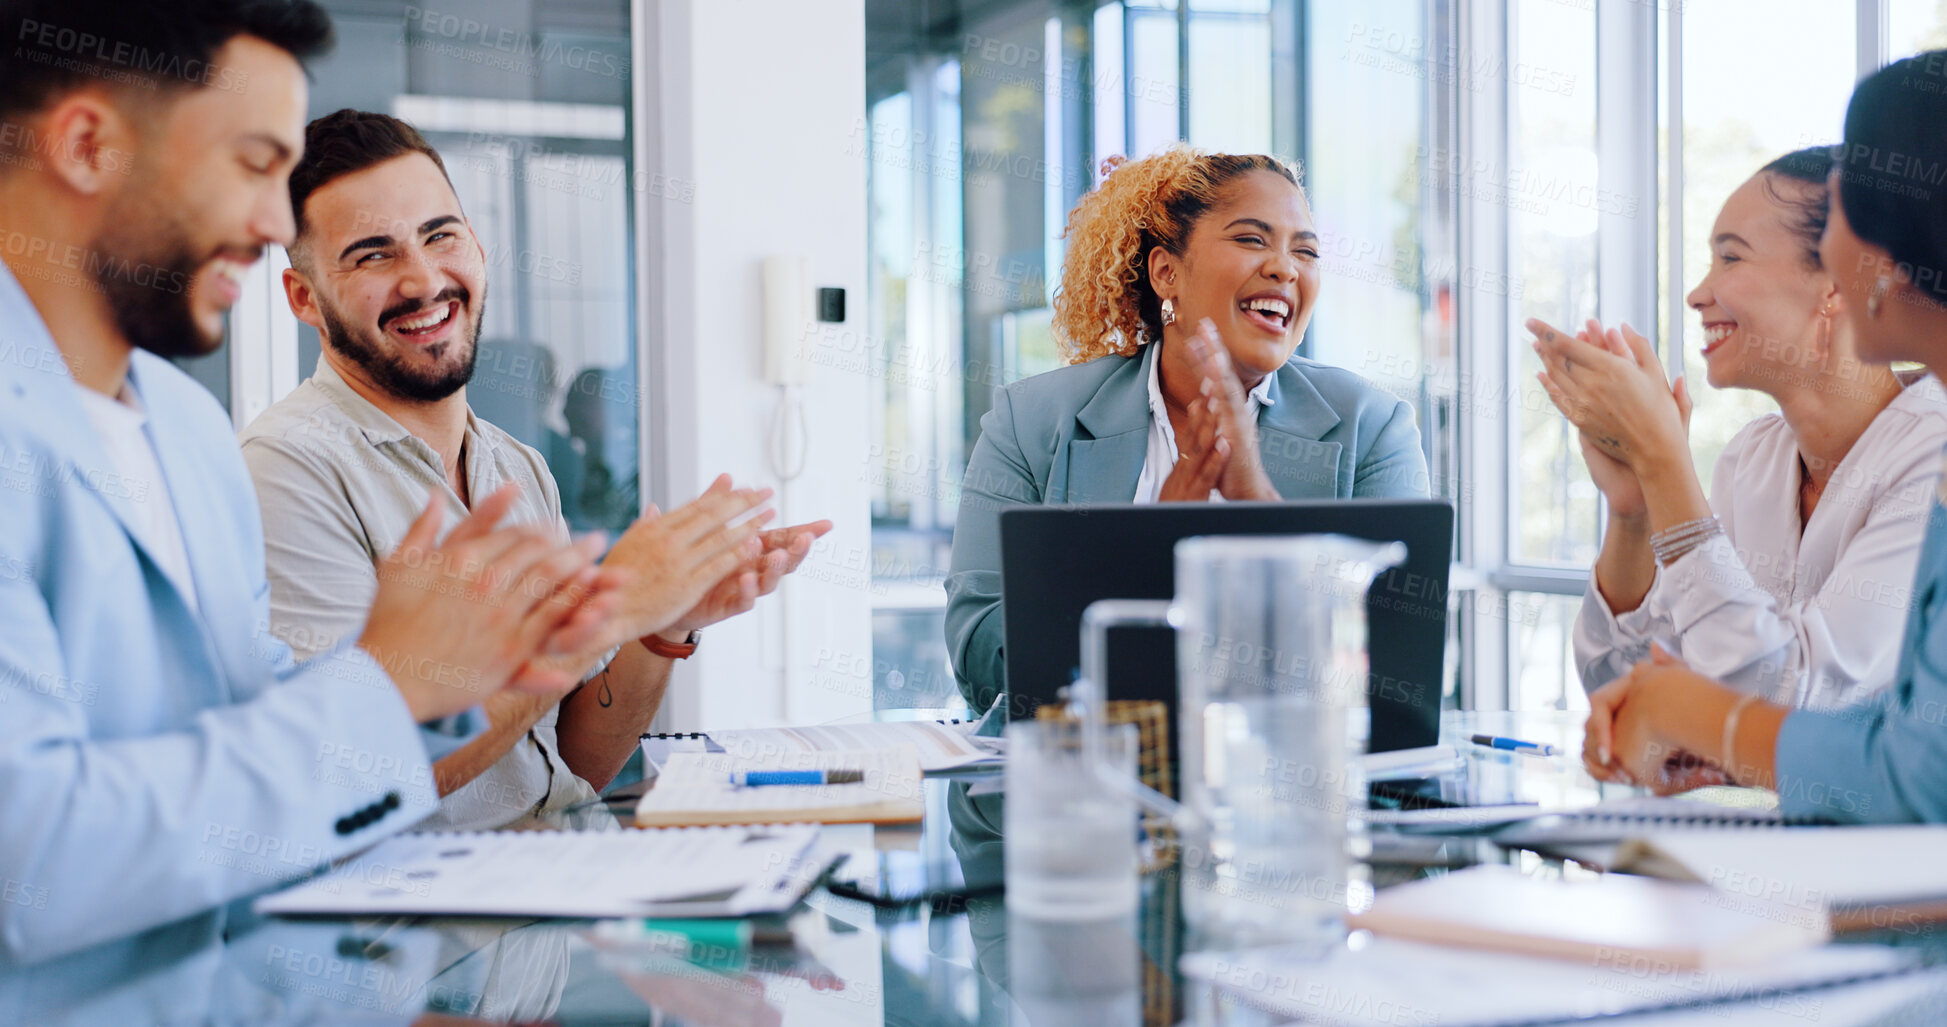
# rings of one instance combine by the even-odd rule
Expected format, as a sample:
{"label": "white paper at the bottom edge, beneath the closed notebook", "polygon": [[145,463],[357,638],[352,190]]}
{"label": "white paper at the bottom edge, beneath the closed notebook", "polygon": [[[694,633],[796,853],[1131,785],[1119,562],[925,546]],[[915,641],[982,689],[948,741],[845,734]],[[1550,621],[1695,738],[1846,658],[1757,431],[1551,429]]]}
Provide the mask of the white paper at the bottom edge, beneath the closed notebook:
{"label": "white paper at the bottom edge, beneath the closed notebook", "polygon": [[[1192,953],[1186,976],[1277,1015],[1340,1027],[1488,1027],[1684,1008],[1737,998],[1774,1017],[1818,1023],[1818,994],[1844,980],[1881,978],[1918,965],[1916,953],[1883,945],[1824,945],[1764,965],[1671,970],[1651,961],[1540,959],[1421,941],[1357,935],[1320,961],[1277,949]],[[1782,1013],[1797,1013],[1785,1017]]]}

